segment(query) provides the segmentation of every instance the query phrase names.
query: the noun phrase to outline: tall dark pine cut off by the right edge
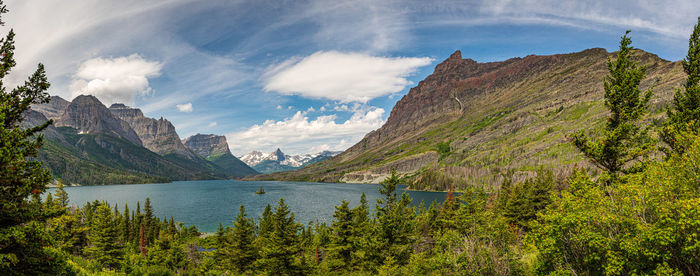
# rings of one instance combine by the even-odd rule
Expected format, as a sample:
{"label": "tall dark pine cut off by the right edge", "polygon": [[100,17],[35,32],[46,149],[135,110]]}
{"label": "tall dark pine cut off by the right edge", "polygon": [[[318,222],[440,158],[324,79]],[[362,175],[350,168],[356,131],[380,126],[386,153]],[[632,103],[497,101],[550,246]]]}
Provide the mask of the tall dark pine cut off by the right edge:
{"label": "tall dark pine cut off by the right edge", "polygon": [[663,141],[676,153],[685,152],[692,145],[691,137],[700,134],[700,17],[690,35],[688,55],[682,64],[688,78],[683,88],[676,90],[661,131]]}

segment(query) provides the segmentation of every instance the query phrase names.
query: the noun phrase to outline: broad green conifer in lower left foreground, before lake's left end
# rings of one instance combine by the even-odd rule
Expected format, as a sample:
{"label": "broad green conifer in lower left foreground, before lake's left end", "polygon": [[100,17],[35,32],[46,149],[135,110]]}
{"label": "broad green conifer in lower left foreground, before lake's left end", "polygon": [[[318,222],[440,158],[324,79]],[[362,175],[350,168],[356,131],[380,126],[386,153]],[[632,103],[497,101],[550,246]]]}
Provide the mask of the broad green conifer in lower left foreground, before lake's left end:
{"label": "broad green conifer in lower left foreground, before lake's left end", "polygon": [[107,204],[100,204],[92,218],[85,254],[105,268],[117,268],[123,260],[118,225]]}

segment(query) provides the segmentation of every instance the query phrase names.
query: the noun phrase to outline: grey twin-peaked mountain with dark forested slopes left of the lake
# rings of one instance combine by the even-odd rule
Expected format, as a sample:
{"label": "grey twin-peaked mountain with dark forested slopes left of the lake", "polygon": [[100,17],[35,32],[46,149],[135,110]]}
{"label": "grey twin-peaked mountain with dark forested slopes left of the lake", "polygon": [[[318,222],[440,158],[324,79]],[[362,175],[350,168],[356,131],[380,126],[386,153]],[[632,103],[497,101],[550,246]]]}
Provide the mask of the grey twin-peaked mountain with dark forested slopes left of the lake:
{"label": "grey twin-peaked mountain with dark forested slopes left of the lake", "polygon": [[[167,120],[145,118],[140,110],[123,105],[114,106],[119,111],[110,110],[93,96],[78,96],[67,105],[64,101],[52,97],[49,103],[33,105],[25,115],[25,127],[45,122],[47,114],[57,118],[55,126],[42,132],[46,139],[39,158],[66,183],[153,183],[240,175],[186,148]],[[139,133],[115,114],[132,121]]]}

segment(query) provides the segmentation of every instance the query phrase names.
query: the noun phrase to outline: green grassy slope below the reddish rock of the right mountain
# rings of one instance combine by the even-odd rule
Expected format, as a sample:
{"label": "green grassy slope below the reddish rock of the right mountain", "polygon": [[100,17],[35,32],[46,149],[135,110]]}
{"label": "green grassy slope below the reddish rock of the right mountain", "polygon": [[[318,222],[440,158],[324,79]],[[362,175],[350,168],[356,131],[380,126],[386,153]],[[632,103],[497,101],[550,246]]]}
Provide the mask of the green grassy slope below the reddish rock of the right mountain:
{"label": "green grassy slope below the reddish rock of the right mountain", "polygon": [[[649,66],[642,86],[655,83],[648,119],[659,118],[682,81],[683,72],[677,62],[641,51],[636,54]],[[385,175],[396,167],[412,177],[413,188],[441,190],[445,189],[444,181],[440,181],[444,178],[462,179],[463,185],[497,186],[506,173],[517,180],[531,176],[538,168],[590,166],[567,137],[580,129],[595,132],[601,126],[606,115],[602,100],[605,61],[604,53],[563,55],[561,62],[546,66],[546,70],[534,71],[488,93],[464,97],[461,114],[434,114],[426,121],[435,123],[387,139],[380,146],[345,152],[298,171],[254,179],[367,182],[368,175]],[[457,89],[469,88],[464,85]],[[443,158],[436,152],[439,142],[450,144],[450,152]],[[367,139],[359,142],[363,143],[368,143]],[[438,181],[422,177],[436,173],[438,177],[433,179]]]}

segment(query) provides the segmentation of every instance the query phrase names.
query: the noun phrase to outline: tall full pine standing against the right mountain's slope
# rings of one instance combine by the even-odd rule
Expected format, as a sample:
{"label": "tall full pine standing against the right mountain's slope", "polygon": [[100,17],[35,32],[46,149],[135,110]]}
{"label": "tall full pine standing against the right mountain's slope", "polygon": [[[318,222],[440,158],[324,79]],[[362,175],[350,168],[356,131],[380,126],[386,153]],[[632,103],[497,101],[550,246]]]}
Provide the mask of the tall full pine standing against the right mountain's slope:
{"label": "tall full pine standing against the right mountain's slope", "polygon": [[629,31],[622,36],[617,59],[608,59],[609,75],[603,82],[603,88],[605,106],[610,110],[610,115],[602,137],[594,141],[586,137],[583,131],[572,137],[573,144],[613,178],[618,173],[630,171],[628,165],[631,163],[643,161],[655,145],[647,135],[647,129],[639,126],[653,92],[651,89],[639,89],[646,67],[640,67],[630,59],[633,48],[628,34]]}

